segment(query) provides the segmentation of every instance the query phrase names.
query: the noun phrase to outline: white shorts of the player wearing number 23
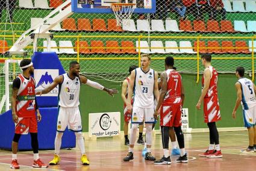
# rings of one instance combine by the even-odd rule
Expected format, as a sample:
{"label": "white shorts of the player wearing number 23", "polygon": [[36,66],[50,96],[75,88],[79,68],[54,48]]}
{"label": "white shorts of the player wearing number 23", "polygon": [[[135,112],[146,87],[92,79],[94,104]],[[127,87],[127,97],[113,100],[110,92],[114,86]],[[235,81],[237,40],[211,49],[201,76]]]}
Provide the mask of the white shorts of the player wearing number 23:
{"label": "white shorts of the player wearing number 23", "polygon": [[133,114],[131,116],[131,123],[155,123],[154,108],[133,107]]}

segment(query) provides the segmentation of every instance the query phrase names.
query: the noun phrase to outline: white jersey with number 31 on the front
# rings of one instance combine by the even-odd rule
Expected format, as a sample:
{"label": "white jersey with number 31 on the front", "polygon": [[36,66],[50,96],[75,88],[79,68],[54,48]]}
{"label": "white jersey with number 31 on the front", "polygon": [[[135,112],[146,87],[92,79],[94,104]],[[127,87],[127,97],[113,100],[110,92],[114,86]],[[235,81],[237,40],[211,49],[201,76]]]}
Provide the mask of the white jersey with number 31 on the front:
{"label": "white jersey with number 31 on the front", "polygon": [[61,107],[78,107],[80,94],[80,79],[69,78],[67,73],[63,74],[63,82],[59,86],[58,105]]}

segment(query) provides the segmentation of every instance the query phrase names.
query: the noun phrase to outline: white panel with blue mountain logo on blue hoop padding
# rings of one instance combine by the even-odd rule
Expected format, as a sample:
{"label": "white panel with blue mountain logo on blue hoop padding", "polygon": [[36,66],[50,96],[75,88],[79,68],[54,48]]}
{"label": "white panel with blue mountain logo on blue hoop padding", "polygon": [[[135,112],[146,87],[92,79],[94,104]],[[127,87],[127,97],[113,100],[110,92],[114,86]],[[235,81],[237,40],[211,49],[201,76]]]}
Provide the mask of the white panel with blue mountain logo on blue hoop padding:
{"label": "white panel with blue mountain logo on blue hoop padding", "polygon": [[[36,92],[48,87],[58,76],[58,69],[35,69],[34,78],[36,81]],[[51,92],[42,96],[58,96],[58,85]]]}

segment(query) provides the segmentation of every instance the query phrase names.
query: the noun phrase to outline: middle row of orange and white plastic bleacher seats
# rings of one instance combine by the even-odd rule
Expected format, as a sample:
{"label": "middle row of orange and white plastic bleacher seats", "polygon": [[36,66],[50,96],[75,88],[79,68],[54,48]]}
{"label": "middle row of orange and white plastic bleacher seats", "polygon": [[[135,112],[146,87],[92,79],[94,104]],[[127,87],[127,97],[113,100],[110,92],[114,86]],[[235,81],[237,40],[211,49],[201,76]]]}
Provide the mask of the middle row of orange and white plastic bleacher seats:
{"label": "middle row of orange and white plastic bleacher seats", "polygon": [[[37,25],[42,22],[42,18],[31,18],[31,26]],[[51,19],[49,19],[51,20]],[[123,22],[126,22],[123,20]],[[108,19],[107,24],[104,19],[93,19],[92,25],[90,19],[78,19],[77,26],[76,20],[67,18],[63,20],[62,28],[60,23],[52,28],[53,31],[157,31],[157,32],[214,32],[214,33],[251,33],[256,32],[256,20],[248,20],[247,28],[243,20],[234,20],[234,27],[230,20],[208,20],[207,23],[203,20],[194,20],[193,26],[190,20],[180,20],[180,26],[176,20],[151,20],[151,25],[148,20],[137,20],[137,28],[134,20],[130,19],[129,25],[123,25],[123,28],[116,25],[116,19]]]}

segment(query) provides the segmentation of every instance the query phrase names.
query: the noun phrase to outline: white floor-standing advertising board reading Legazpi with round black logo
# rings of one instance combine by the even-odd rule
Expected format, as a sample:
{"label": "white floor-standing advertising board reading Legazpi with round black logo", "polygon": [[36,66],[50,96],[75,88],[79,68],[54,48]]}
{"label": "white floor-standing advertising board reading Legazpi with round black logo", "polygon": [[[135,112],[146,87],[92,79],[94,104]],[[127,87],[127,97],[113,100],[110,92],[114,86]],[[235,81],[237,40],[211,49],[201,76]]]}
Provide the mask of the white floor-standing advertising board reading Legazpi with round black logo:
{"label": "white floor-standing advertising board reading Legazpi with round black logo", "polygon": [[111,137],[120,134],[120,112],[89,113],[89,136]]}

